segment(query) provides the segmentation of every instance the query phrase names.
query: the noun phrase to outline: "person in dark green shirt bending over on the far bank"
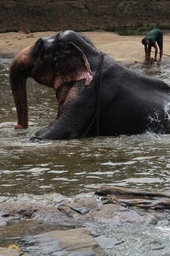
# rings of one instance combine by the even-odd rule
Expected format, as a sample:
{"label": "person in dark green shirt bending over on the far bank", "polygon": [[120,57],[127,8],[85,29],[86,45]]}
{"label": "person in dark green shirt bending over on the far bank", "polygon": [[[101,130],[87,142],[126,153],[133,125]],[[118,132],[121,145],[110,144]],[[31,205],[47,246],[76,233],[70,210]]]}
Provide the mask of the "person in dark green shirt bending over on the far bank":
{"label": "person in dark green shirt bending over on the far bank", "polygon": [[[151,30],[142,39],[142,43],[144,44],[146,60],[150,60],[150,53],[151,53],[151,49],[153,46],[155,48],[154,60],[157,61],[158,47],[156,45],[156,42],[160,49],[160,58],[159,58],[157,65],[160,65],[162,53],[163,53],[163,34],[162,34],[161,30],[157,29],[155,26],[152,26]],[[147,48],[147,45],[148,45],[148,48]]]}

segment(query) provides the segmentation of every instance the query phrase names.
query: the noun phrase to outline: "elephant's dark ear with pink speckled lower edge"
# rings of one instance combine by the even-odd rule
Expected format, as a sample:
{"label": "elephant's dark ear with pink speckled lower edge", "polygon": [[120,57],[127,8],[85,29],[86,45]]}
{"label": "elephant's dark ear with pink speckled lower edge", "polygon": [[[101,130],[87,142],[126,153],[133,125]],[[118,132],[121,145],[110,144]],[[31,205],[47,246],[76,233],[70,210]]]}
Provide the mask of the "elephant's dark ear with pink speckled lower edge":
{"label": "elephant's dark ear with pink speckled lower edge", "polygon": [[68,43],[58,55],[54,89],[71,81],[86,79],[85,85],[91,84],[93,75],[85,54],[74,44]]}

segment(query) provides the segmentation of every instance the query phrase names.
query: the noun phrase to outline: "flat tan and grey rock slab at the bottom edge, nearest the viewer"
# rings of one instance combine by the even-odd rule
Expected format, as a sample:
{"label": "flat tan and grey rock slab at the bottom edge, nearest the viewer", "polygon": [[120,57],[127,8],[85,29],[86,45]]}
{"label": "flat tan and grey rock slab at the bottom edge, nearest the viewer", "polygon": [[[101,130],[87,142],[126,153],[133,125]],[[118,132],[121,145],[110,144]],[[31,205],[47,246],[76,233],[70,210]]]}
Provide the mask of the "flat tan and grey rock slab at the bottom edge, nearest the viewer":
{"label": "flat tan and grey rock slab at the bottom edge, nearest the viewer", "polygon": [[88,228],[56,230],[24,240],[23,249],[34,256],[106,256]]}

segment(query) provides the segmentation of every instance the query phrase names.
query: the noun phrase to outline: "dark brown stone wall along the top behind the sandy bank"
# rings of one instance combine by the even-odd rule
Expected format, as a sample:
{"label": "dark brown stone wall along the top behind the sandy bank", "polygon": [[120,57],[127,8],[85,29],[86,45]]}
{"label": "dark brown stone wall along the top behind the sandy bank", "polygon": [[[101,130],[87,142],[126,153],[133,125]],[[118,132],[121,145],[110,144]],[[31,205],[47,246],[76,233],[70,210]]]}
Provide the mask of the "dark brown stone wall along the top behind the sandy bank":
{"label": "dark brown stone wall along the top behind the sandy bank", "polygon": [[170,26],[170,0],[0,0],[0,32]]}

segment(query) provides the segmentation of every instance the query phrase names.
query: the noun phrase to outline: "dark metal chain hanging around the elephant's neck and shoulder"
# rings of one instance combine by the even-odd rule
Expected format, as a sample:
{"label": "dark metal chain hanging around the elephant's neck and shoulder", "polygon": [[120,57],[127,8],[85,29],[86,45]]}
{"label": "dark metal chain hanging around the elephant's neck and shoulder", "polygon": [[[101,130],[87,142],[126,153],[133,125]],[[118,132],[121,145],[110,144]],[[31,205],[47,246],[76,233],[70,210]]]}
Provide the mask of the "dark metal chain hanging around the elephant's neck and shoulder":
{"label": "dark metal chain hanging around the elephant's neck and shoulder", "polygon": [[101,88],[101,78],[102,78],[102,62],[104,59],[105,54],[100,52],[99,63],[96,69],[95,77],[94,77],[94,86],[96,89],[96,112],[94,114],[93,120],[85,133],[80,137],[82,139],[92,127],[92,124],[96,118],[96,126],[97,126],[97,136],[99,136],[99,105],[100,105],[100,88]]}

